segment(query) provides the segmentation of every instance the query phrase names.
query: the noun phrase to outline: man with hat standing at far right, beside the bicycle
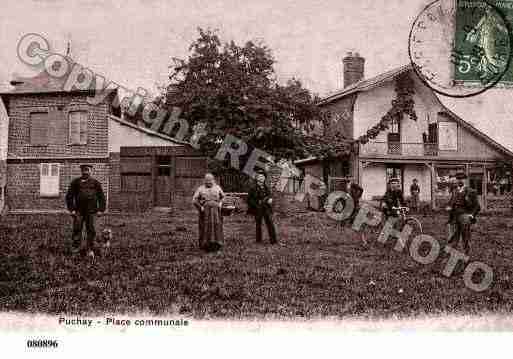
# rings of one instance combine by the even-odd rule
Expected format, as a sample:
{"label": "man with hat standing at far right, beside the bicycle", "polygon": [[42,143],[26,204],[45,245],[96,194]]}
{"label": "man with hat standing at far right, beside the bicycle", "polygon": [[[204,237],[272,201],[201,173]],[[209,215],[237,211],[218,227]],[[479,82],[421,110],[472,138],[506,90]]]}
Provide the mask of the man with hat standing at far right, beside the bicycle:
{"label": "man with hat standing at far right, beside the bicycle", "polygon": [[454,232],[449,238],[449,244],[455,243],[456,246],[463,241],[465,253],[470,251],[470,232],[471,225],[476,223],[476,217],[481,206],[477,199],[477,193],[466,185],[467,175],[464,172],[456,174],[457,185],[453,190],[449,200],[449,221],[454,226]]}

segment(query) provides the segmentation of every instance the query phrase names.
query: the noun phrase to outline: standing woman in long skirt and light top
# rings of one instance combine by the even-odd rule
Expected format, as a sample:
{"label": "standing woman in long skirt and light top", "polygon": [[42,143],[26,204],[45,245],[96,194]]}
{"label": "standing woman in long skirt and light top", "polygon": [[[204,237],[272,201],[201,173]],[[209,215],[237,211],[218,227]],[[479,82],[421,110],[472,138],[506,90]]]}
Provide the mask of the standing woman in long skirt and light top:
{"label": "standing woman in long skirt and light top", "polygon": [[224,192],[215,183],[211,173],[205,175],[205,182],[194,196],[192,203],[198,210],[199,246],[207,252],[215,252],[221,249],[223,241],[223,222],[221,207],[223,205]]}

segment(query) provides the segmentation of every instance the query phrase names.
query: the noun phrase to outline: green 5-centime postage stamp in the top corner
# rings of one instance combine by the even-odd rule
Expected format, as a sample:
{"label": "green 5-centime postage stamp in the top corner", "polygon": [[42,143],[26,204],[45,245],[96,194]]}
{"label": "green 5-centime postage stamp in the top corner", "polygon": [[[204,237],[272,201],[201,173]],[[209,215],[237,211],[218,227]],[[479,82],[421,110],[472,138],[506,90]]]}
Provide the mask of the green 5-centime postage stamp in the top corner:
{"label": "green 5-centime postage stamp in the top corner", "polygon": [[513,84],[513,0],[458,0],[454,37],[454,82]]}

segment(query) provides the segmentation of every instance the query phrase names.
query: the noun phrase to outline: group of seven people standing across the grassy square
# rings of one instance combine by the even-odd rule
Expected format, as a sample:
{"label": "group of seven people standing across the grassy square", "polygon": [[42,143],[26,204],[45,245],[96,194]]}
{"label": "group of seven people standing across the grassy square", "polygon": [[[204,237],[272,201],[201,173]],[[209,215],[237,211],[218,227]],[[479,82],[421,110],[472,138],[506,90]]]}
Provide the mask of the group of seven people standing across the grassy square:
{"label": "group of seven people standing across the grassy square", "polygon": [[[85,225],[87,232],[88,255],[94,257],[94,242],[96,237],[95,219],[105,211],[105,195],[99,181],[91,177],[91,165],[80,166],[82,175],[74,179],[66,194],[66,205],[73,216],[72,248],[78,251],[82,239],[82,229]],[[471,225],[476,223],[480,205],[476,191],[467,182],[467,176],[461,172],[456,174],[457,185],[452,191],[447,210],[449,211],[449,243],[458,244],[460,238],[466,253],[470,250]],[[356,184],[348,184],[347,191],[351,195],[355,208],[351,219],[354,219],[363,188]],[[417,179],[410,187],[412,207],[418,209],[420,187]],[[223,200],[225,194],[215,182],[214,176],[207,173],[204,183],[194,192],[192,203],[198,210],[199,247],[206,252],[221,249],[223,243]],[[387,191],[383,196],[384,214],[387,217],[397,216],[397,207],[405,205],[400,181],[390,180]],[[265,223],[271,244],[278,243],[276,226],[273,220],[272,192],[266,183],[266,175],[260,172],[256,175],[247,197],[248,214],[255,218],[255,241],[262,243],[262,225]]]}

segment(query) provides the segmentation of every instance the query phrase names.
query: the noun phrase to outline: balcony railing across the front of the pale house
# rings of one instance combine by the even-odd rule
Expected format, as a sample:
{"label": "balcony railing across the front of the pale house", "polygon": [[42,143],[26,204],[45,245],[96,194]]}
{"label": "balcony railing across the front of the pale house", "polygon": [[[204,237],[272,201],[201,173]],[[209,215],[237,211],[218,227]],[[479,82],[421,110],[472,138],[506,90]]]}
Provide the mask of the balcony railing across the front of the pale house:
{"label": "balcony railing across the front of the pale house", "polygon": [[438,143],[367,142],[360,148],[367,156],[438,156]]}

